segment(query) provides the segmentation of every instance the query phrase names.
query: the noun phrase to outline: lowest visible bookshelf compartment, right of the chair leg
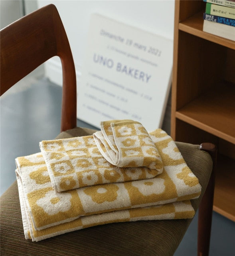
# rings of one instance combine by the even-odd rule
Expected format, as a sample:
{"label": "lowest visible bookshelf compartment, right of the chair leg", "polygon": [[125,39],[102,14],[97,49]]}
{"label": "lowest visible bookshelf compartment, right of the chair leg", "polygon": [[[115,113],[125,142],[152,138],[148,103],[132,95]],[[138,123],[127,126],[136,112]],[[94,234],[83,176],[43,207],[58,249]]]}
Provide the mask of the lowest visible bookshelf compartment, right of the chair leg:
{"label": "lowest visible bookshelf compartment, right of the chair leg", "polygon": [[235,160],[218,156],[213,210],[235,221]]}

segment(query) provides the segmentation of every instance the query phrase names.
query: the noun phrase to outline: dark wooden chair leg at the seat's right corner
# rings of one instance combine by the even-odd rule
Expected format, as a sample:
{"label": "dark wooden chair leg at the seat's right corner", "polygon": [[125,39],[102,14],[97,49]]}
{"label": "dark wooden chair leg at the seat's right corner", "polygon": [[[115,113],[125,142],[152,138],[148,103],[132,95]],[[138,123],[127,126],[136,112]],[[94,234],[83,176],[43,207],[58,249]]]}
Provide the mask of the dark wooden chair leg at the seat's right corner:
{"label": "dark wooden chair leg at the seat's right corner", "polygon": [[215,188],[215,164],[217,158],[217,148],[211,143],[202,143],[200,150],[204,150],[211,155],[213,169],[209,183],[199,205],[198,231],[197,231],[197,256],[208,256],[211,236],[211,221],[213,212],[213,198]]}

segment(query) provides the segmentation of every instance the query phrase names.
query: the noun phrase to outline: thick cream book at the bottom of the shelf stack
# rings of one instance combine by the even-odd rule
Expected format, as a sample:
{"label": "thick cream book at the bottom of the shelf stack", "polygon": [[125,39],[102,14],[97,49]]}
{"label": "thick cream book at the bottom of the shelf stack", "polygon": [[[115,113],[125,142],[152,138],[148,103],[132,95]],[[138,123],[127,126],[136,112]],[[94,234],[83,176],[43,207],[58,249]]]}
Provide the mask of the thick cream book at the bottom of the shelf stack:
{"label": "thick cream book at the bottom of the shelf stack", "polygon": [[203,31],[235,41],[235,26],[204,20]]}

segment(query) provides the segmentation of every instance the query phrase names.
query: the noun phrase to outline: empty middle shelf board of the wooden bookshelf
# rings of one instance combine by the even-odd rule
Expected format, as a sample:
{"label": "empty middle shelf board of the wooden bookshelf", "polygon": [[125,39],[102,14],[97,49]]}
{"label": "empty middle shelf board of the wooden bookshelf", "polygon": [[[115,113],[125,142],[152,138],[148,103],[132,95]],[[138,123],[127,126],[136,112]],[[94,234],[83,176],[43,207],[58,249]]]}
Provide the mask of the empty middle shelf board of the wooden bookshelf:
{"label": "empty middle shelf board of the wooden bookshelf", "polygon": [[235,84],[220,84],[176,111],[176,118],[235,144]]}

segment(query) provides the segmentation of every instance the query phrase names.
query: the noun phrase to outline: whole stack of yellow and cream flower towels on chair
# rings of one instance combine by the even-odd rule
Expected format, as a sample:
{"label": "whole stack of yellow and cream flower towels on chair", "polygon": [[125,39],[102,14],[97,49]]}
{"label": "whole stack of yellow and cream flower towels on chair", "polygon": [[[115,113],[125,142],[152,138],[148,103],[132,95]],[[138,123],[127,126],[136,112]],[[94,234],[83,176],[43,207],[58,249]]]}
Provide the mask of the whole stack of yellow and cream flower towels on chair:
{"label": "whole stack of yellow and cream flower towels on chair", "polygon": [[192,218],[201,186],[161,129],[101,123],[91,136],[42,141],[16,158],[24,234],[32,241],[137,220]]}

